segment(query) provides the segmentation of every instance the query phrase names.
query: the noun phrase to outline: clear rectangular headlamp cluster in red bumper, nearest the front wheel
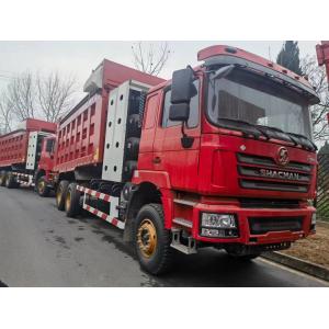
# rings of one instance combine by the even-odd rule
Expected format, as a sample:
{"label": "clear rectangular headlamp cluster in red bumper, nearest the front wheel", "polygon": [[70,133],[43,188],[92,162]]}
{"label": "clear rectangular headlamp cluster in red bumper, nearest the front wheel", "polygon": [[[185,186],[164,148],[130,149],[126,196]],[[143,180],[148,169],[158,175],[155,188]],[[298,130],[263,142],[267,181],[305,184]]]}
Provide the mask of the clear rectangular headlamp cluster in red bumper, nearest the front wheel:
{"label": "clear rectangular headlamp cluster in red bumper, nearest the front wheel", "polygon": [[236,216],[232,214],[202,213],[201,235],[209,238],[238,237]]}

